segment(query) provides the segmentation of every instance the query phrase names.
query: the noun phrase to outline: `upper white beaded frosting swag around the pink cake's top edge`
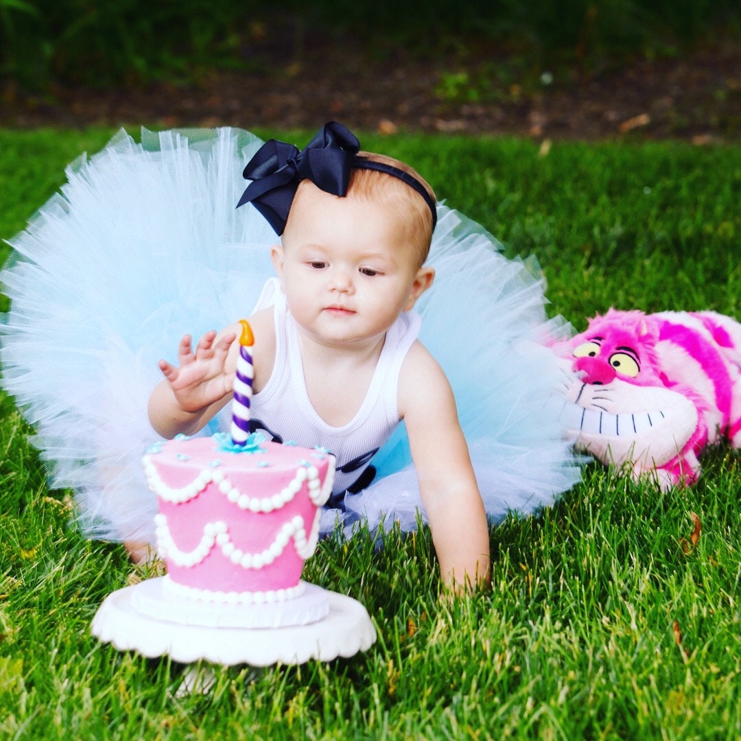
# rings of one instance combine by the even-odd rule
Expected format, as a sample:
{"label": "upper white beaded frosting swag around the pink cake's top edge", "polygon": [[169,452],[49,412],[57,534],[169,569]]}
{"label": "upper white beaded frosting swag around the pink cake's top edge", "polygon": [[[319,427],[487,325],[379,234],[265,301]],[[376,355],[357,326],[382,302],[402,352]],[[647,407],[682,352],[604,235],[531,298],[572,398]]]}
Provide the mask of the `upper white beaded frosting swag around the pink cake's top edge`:
{"label": "upper white beaded frosting swag around the pink cake's top edge", "polygon": [[[333,459],[329,461],[329,468],[333,469]],[[192,482],[177,489],[168,486],[162,481],[148,455],[144,456],[144,473],[147,476],[147,484],[150,490],[157,496],[162,497],[165,502],[172,502],[173,504],[188,502],[190,499],[198,496],[200,492],[213,482],[219,485],[219,491],[222,494],[226,494],[230,502],[236,504],[240,509],[249,509],[253,512],[272,512],[273,510],[285,507],[301,491],[302,484],[305,481],[308,485],[309,498],[319,507],[329,498],[333,481],[333,476],[330,475],[332,471],[328,470],[328,476],[325,479],[324,486],[322,486],[322,483],[319,481],[319,471],[317,471],[315,466],[299,466],[296,469],[296,475],[282,491],[271,496],[259,497],[243,494],[227,479],[223,471],[220,471],[218,468],[203,468]]]}

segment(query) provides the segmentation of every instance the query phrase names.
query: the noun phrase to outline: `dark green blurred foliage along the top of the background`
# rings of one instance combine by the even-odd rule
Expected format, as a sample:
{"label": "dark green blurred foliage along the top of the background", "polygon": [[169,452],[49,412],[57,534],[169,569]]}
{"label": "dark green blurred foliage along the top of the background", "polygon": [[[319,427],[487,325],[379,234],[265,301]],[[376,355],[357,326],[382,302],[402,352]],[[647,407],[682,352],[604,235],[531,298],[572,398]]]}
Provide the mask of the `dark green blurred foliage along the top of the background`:
{"label": "dark green blurred foliage along the top of the background", "polygon": [[250,70],[265,44],[290,58],[346,34],[376,53],[429,55],[481,44],[531,67],[614,64],[672,53],[722,25],[735,0],[0,0],[0,74],[31,90],[53,84],[193,79],[213,65]]}

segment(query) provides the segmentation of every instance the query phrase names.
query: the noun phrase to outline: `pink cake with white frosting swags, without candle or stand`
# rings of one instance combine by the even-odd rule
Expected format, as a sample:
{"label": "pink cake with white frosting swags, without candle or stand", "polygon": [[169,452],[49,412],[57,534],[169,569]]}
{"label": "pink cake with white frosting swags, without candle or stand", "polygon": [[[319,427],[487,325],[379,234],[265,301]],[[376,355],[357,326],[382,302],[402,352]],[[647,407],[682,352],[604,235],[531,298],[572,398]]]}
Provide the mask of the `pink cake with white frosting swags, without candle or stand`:
{"label": "pink cake with white frosting swags, without candle or stand", "polygon": [[325,451],[257,435],[243,448],[222,435],[154,445],[144,471],[159,501],[167,588],[226,604],[299,597],[334,465]]}

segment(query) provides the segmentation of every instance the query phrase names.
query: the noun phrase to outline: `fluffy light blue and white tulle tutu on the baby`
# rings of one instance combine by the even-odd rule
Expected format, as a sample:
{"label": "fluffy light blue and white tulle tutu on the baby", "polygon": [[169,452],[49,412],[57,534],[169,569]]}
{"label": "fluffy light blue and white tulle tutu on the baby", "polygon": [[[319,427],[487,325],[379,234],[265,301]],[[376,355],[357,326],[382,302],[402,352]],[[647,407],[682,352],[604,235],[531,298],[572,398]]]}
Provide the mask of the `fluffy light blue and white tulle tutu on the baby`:
{"label": "fluffy light blue and white tulle tutu on the baby", "polygon": [[[273,275],[273,230],[252,205],[235,208],[261,144],[230,128],[144,130],[141,144],[122,131],[70,165],[62,192],[10,240],[3,385],[91,537],[153,542],[141,459],[159,439],[147,419],[157,361],[173,359],[183,334],[249,314]],[[553,403],[562,371],[543,344],[563,322],[548,320],[534,266],[505,259],[455,210],[440,204],[438,218],[420,339],[448,373],[491,520],[530,514],[579,480]],[[416,527],[403,425],[373,463],[373,484],[326,511],[323,531],[359,519]]]}

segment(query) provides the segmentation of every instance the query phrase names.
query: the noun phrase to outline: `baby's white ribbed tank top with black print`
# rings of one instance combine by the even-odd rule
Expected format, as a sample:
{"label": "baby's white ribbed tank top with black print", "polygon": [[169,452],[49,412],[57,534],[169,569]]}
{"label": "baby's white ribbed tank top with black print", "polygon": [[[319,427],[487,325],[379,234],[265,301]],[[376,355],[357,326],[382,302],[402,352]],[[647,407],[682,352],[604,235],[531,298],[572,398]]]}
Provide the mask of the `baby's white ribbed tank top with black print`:
{"label": "baby's white ribbed tank top with black print", "polygon": [[273,303],[276,358],[273,372],[251,404],[253,430],[265,430],[277,442],[324,448],[337,459],[333,494],[342,494],[368,468],[371,458],[399,424],[397,390],[402,363],[419,334],[422,319],[405,312],[386,333],[376,370],[359,411],[346,425],[332,427],[309,400],[299,348],[299,334],[277,281],[263,290],[257,309]]}

